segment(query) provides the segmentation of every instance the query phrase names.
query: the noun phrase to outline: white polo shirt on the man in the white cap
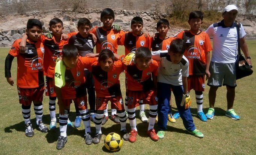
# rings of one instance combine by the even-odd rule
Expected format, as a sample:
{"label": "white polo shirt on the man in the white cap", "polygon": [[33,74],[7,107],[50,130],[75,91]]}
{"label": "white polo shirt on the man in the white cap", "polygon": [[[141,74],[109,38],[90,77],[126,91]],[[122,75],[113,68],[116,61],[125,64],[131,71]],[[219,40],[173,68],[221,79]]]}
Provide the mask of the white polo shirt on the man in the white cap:
{"label": "white polo shirt on the man in the white cap", "polygon": [[[244,27],[240,24],[240,39],[246,35]],[[237,31],[236,23],[230,27],[224,25],[224,21],[214,23],[205,31],[213,37],[212,62],[235,63],[237,55]]]}

